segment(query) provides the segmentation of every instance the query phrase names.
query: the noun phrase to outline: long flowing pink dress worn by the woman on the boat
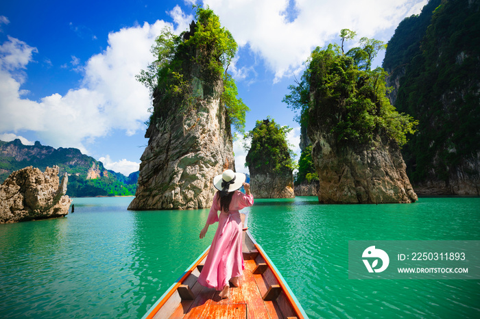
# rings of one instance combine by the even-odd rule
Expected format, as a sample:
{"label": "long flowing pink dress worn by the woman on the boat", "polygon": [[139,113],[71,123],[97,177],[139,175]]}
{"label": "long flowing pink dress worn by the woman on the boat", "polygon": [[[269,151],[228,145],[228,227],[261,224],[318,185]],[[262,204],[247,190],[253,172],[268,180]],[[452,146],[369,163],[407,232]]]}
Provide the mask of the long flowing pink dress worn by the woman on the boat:
{"label": "long flowing pink dress worn by the woman on the boat", "polygon": [[221,212],[218,216],[220,209],[218,192],[213,197],[213,205],[206,223],[212,225],[214,222],[219,222],[219,225],[210,251],[208,251],[204,268],[197,279],[204,287],[222,290],[230,278],[243,274],[242,227],[239,210],[252,205],[252,194],[245,195],[239,190],[235,190],[228,214]]}

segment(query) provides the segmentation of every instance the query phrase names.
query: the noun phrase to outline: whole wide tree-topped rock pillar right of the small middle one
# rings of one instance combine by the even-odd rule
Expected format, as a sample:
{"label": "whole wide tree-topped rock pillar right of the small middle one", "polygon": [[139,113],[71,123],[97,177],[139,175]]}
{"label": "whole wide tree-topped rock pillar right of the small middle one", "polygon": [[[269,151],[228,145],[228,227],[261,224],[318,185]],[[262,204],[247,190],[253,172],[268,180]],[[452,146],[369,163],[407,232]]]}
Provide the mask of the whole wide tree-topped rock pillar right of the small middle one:
{"label": "whole wide tree-topped rock pillar right of the small middle one", "polygon": [[[352,35],[344,29],[340,36]],[[317,47],[284,101],[307,127],[320,203],[411,203],[417,196],[400,146],[416,122],[389,103],[385,71],[370,68],[385,44],[359,42],[347,53],[336,44]]]}

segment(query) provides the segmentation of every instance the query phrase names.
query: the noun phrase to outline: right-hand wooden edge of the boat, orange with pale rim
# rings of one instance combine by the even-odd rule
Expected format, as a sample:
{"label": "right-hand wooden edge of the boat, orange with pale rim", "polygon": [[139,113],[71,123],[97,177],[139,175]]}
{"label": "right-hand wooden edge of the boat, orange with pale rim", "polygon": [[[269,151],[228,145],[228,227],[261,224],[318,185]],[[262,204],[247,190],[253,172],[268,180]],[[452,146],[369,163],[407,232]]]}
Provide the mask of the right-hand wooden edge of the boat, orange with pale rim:
{"label": "right-hand wooden edge of the boat, orange with pale rim", "polygon": [[[244,231],[244,233],[245,233],[245,231]],[[297,317],[299,319],[300,318],[305,318],[305,319],[309,318],[307,316],[307,314],[305,313],[304,309],[302,308],[302,306],[300,305],[300,303],[298,302],[298,299],[296,298],[295,294],[293,294],[292,290],[290,289],[289,285],[287,284],[287,281],[285,281],[283,276],[280,275],[280,272],[278,271],[278,269],[276,268],[276,266],[274,265],[272,260],[268,257],[267,253],[265,253],[263,248],[254,240],[250,231],[246,231],[246,235],[245,235],[245,244],[248,243],[248,242],[251,242],[251,244],[254,247],[253,249],[251,249],[252,252],[254,254],[257,253],[258,255],[261,256],[261,258],[263,260],[265,260],[266,268],[268,268],[269,270],[272,271],[276,281],[278,281],[278,285],[280,286],[281,292],[283,292],[285,294],[285,297],[287,298],[287,302],[289,303],[289,305],[291,306],[293,311],[296,313]],[[249,246],[248,244],[246,244],[246,245]],[[257,263],[257,267],[261,266],[261,264],[263,264],[263,263]],[[264,266],[262,265],[261,267],[263,268]],[[259,270],[259,271],[265,272],[265,270]],[[277,290],[277,289],[278,288],[275,288],[275,290]],[[277,296],[278,296],[278,294],[280,294],[281,292],[267,291],[267,294],[277,294]],[[270,295],[268,295],[268,296],[270,296]]]}

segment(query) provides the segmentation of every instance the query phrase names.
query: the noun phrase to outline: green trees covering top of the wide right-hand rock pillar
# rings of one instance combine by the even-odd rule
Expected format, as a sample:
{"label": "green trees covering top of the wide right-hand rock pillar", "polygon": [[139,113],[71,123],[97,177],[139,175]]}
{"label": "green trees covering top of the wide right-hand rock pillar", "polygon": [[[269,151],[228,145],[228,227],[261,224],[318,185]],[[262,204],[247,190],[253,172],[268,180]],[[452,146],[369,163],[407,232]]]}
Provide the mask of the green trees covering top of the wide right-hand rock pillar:
{"label": "green trees covering top of the wide right-hand rock pillar", "polygon": [[[340,36],[343,42],[355,34],[344,29]],[[417,123],[389,103],[383,68],[370,69],[385,44],[368,38],[361,38],[360,43],[361,47],[346,54],[337,44],[313,50],[301,81],[289,86],[290,94],[283,101],[300,112],[300,124],[322,125],[340,143],[368,144],[384,132],[402,146]],[[310,114],[317,115],[311,118]]]}

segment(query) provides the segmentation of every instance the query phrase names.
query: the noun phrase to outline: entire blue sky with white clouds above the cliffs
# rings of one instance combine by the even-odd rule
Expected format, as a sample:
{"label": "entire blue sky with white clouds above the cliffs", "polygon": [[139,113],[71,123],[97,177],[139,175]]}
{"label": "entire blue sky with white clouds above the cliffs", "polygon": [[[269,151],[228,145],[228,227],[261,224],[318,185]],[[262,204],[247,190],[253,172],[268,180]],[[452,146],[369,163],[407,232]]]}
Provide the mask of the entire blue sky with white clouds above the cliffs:
{"label": "entire blue sky with white clouds above the cliffs", "polygon": [[[151,101],[134,76],[154,60],[163,27],[187,29],[194,3],[213,9],[239,44],[229,71],[251,110],[246,129],[271,116],[293,128],[300,155],[282,99],[311,50],[338,42],[343,28],[388,42],[427,0],[1,1],[0,140],[75,147],[125,175],[138,170]],[[234,151],[247,173],[241,141]]]}

